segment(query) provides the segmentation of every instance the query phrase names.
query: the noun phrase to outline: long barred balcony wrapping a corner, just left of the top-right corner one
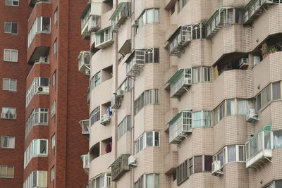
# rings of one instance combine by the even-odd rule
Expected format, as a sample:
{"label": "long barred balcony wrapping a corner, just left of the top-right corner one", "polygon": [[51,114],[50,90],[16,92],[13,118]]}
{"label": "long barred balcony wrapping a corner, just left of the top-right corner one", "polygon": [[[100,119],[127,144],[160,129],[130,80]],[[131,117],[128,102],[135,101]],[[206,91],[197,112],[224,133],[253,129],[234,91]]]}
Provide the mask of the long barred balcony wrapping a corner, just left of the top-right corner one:
{"label": "long barred balcony wrapping a corner, just left of the top-right corner one", "polygon": [[207,32],[207,39],[212,38],[216,35],[221,27],[231,24],[242,23],[242,13],[239,8],[233,7],[222,7],[212,15],[207,23],[204,24]]}

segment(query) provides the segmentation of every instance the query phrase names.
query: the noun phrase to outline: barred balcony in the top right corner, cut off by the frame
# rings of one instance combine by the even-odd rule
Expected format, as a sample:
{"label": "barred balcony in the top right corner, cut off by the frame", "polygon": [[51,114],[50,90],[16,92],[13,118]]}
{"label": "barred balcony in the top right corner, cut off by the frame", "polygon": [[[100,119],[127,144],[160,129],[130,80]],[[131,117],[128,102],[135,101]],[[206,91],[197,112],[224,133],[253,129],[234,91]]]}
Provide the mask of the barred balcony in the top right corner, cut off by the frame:
{"label": "barred balcony in the top right corner, cut off by the frame", "polygon": [[272,4],[282,4],[282,0],[251,0],[242,10],[243,23],[251,24]]}

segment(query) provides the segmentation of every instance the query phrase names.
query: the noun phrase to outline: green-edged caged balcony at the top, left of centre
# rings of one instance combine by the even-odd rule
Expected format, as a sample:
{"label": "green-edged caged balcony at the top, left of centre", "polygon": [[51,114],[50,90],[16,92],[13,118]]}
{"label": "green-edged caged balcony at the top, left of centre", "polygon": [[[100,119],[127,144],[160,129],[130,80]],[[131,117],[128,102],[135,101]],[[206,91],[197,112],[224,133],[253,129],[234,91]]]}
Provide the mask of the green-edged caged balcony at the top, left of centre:
{"label": "green-edged caged balcony at the top, left of centre", "polygon": [[131,4],[130,3],[120,3],[111,15],[111,28],[112,32],[118,32],[118,29],[123,25],[125,20],[131,16]]}

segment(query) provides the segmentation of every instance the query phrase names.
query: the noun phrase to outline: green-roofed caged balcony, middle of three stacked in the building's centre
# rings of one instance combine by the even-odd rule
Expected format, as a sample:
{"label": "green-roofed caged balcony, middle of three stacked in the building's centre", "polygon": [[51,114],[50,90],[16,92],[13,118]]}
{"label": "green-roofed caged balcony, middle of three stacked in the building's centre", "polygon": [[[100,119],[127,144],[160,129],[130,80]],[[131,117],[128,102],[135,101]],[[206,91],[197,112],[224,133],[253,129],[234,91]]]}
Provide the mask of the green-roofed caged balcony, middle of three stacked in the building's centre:
{"label": "green-roofed caged balcony, middle of three stacked in the building's centre", "polygon": [[171,84],[171,98],[179,98],[192,84],[191,68],[181,68],[168,80],[168,83]]}

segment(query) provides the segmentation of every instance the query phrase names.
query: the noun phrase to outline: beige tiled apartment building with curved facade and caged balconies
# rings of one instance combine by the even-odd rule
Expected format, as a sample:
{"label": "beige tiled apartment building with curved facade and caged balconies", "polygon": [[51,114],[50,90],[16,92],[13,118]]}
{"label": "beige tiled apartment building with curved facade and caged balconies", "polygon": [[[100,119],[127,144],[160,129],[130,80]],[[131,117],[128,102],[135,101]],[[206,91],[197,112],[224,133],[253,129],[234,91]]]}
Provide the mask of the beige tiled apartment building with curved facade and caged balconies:
{"label": "beige tiled apartment building with curved facade and caged balconies", "polygon": [[89,1],[85,187],[282,187],[281,15],[281,0]]}

